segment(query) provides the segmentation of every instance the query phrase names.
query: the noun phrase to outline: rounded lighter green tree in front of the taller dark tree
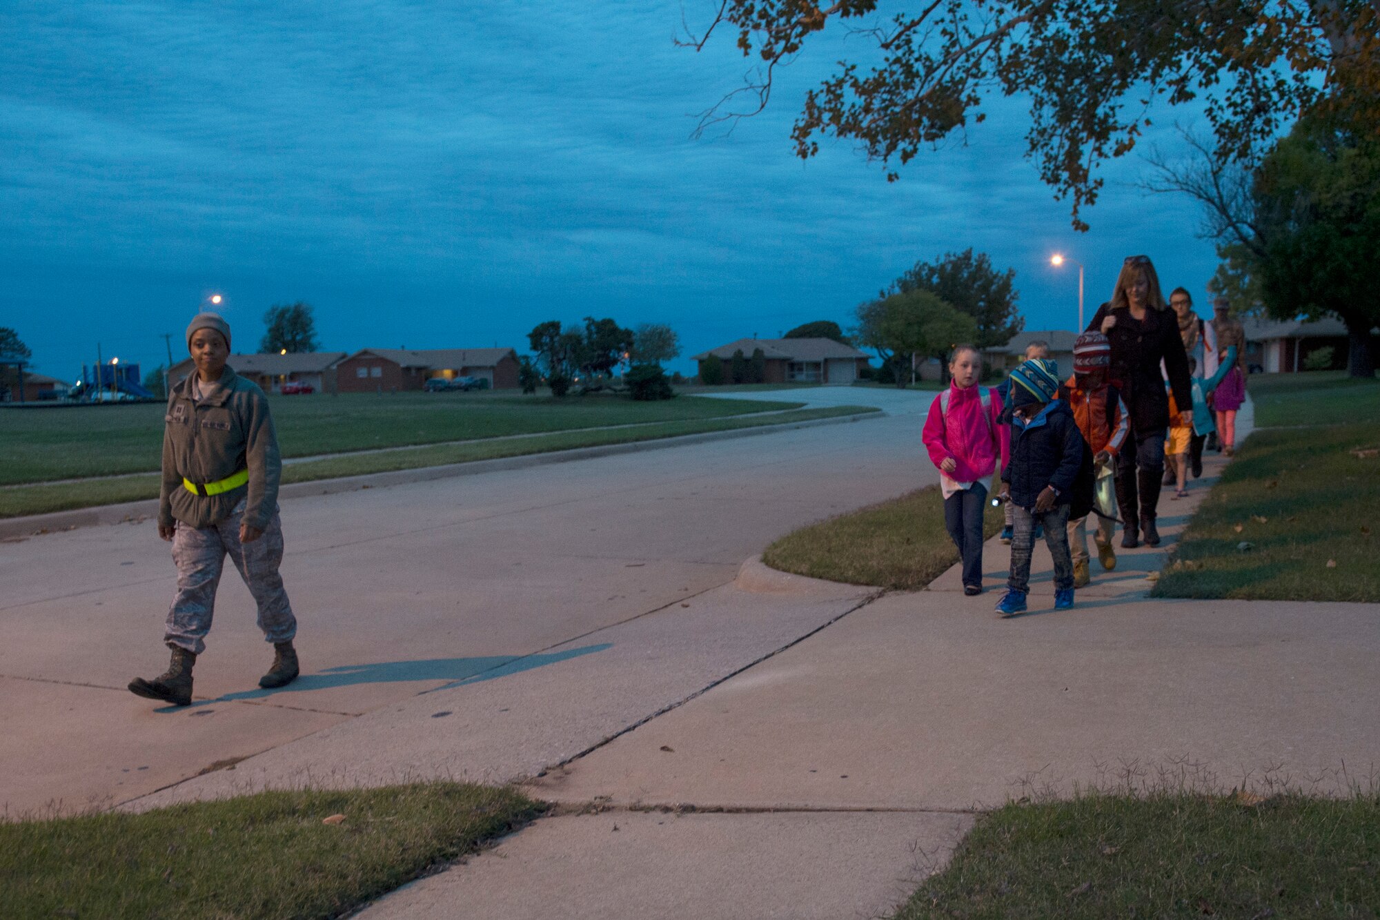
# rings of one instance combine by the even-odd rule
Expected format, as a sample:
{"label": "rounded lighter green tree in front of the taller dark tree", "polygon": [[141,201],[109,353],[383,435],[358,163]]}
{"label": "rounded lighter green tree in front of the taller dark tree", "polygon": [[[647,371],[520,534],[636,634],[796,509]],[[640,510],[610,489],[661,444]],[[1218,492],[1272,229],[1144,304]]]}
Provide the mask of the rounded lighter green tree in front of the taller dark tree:
{"label": "rounded lighter green tree in front of the taller dark tree", "polygon": [[857,340],[890,365],[897,387],[915,381],[914,358],[943,358],[954,345],[972,341],[977,323],[927,290],[891,294],[860,304]]}

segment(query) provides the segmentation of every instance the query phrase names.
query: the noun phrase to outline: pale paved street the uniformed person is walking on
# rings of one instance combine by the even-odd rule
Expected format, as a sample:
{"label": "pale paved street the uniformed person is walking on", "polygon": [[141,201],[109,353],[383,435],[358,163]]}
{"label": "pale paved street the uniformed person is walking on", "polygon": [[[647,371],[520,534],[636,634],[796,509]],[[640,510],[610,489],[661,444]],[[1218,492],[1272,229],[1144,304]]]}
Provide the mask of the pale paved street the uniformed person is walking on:
{"label": "pale paved street the uniformed person is walking on", "polygon": [[[304,677],[273,693],[257,688],[272,649],[232,571],[197,705],[124,689],[167,658],[175,571],[152,521],[0,544],[0,807],[119,804],[418,693],[599,653],[580,637],[679,609],[774,537],[934,481],[916,414],[930,394],[791,396],[890,414],[284,501]],[[763,641],[816,626],[787,617]],[[684,667],[686,687],[707,680]]]}

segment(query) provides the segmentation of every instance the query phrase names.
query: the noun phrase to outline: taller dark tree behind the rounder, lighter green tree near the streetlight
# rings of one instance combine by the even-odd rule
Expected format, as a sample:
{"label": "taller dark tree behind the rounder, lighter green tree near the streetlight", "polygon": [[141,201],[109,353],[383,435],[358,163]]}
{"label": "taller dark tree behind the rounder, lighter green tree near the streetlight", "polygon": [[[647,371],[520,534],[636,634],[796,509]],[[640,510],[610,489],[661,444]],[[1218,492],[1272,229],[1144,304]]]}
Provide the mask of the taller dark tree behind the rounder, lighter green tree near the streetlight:
{"label": "taller dark tree behind the rounder, lighter green tree near the streetlight", "polygon": [[972,316],[977,322],[973,344],[983,349],[1005,345],[1025,326],[1016,308],[1016,269],[996,271],[987,253],[974,256],[966,249],[934,262],[915,262],[883,294],[912,290],[927,290]]}

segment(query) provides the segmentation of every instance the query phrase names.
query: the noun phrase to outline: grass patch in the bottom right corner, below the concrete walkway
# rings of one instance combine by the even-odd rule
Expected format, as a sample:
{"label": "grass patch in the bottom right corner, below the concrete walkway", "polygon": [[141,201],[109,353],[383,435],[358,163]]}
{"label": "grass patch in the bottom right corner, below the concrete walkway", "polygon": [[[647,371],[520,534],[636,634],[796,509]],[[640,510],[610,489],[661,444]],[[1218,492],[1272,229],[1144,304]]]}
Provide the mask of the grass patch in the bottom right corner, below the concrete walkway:
{"label": "grass patch in the bottom right corner, below the concrete walkway", "polygon": [[978,818],[897,920],[1376,917],[1380,797],[1090,794]]}

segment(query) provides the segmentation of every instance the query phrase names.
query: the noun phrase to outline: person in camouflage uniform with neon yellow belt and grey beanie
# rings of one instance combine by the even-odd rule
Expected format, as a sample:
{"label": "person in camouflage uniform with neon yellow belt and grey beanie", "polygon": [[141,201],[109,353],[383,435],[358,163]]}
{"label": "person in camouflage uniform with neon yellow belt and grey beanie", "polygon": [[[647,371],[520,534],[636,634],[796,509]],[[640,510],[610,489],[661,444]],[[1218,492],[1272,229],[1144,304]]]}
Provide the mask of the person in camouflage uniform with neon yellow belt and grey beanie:
{"label": "person in camouflage uniform with neon yellow belt and grey beanie", "polygon": [[259,687],[284,687],[298,674],[297,617],[277,572],[283,463],[268,399],[225,365],[230,326],[224,318],[197,315],[186,327],[186,343],[196,370],[168,396],[159,495],[159,536],[172,543],[178,569],[163,635],[172,660],[159,677],[130,681],[131,692],[175,706],[192,702],[192,667],[206,649],[226,554],[254,595],[258,626],[273,644],[273,664]]}

